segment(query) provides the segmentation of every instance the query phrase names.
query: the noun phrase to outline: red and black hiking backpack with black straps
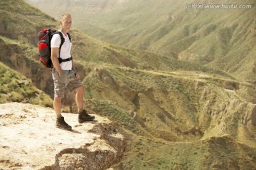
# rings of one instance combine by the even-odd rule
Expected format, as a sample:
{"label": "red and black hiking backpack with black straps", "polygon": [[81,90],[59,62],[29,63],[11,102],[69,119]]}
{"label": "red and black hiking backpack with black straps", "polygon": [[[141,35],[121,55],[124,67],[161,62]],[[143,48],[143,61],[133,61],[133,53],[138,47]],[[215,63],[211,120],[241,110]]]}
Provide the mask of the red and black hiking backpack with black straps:
{"label": "red and black hiking backpack with black straps", "polygon": [[[61,46],[65,42],[65,39],[63,38],[63,34],[60,31],[48,29],[48,30],[40,30],[38,32],[38,40],[39,40],[38,50],[39,50],[39,56],[40,56],[39,60],[48,68],[53,68],[53,62],[50,59],[50,55],[51,55],[50,40],[53,38],[54,34],[60,35],[60,40],[61,40],[60,47],[59,47],[59,53],[60,53]],[[68,33],[68,38],[70,39],[70,42],[71,42],[69,33]],[[68,62],[72,60],[72,57],[65,60],[59,57],[58,60],[60,63]]]}

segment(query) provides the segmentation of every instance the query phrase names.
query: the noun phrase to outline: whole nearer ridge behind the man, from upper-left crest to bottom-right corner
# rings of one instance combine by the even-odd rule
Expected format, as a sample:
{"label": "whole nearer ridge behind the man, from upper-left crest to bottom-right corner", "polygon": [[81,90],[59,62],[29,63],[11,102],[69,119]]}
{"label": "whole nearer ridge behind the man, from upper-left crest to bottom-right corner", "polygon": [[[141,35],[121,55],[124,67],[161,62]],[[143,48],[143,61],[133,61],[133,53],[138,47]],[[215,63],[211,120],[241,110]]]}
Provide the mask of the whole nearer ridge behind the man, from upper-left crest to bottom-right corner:
{"label": "whole nearer ridge behind the man, from upper-left crest to bottom-right corner", "polygon": [[[52,95],[36,34],[58,21],[24,1],[0,6],[1,62]],[[255,84],[175,55],[110,45],[75,28],[70,34],[86,108],[110,118],[128,139],[114,169],[255,169]]]}

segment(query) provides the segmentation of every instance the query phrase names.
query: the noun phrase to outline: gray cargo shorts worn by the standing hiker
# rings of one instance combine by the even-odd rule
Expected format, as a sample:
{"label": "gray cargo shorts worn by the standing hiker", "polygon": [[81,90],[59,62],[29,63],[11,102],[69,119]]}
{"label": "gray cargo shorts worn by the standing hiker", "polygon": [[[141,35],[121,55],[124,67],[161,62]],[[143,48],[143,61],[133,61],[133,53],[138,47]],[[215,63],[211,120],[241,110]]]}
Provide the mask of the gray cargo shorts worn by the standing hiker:
{"label": "gray cargo shorts worn by the standing hiker", "polygon": [[60,77],[55,68],[51,72],[54,82],[54,97],[63,98],[65,90],[73,91],[82,86],[81,80],[75,78],[75,71],[73,70],[62,70]]}

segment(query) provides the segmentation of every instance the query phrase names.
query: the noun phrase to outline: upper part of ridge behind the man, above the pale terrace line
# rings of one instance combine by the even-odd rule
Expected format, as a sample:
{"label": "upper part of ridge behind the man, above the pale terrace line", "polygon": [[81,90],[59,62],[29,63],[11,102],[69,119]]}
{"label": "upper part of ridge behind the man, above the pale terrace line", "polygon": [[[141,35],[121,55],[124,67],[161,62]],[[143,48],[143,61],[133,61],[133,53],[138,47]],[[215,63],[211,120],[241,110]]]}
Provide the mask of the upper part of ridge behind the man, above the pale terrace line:
{"label": "upper part of ridge behind the man, above the pale terrace line", "polygon": [[[21,0],[1,1],[0,12],[1,62],[26,75],[39,89],[53,96],[50,69],[46,69],[38,62],[36,48],[38,31],[45,28],[58,29],[58,21]],[[80,73],[82,78],[85,77],[86,72],[90,71],[91,64],[93,68],[95,64],[102,63],[137,69],[164,71],[182,69],[211,72],[231,77],[218,69],[202,67],[200,64],[190,62],[180,62],[173,56],[166,57],[151,52],[129,50],[124,47],[110,45],[91,38],[75,28],[70,30],[70,33],[73,41],[73,57],[82,60],[76,64],[78,70],[82,69]]]}

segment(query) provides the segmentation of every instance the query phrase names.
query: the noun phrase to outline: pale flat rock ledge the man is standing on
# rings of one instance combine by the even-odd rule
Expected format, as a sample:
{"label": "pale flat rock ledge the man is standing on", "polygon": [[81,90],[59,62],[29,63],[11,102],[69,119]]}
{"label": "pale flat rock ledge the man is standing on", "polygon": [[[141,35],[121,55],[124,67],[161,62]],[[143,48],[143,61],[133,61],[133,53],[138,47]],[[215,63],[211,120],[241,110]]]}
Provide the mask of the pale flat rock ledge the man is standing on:
{"label": "pale flat rock ledge the man is standing on", "polygon": [[122,159],[126,140],[107,118],[79,124],[63,114],[73,130],[55,128],[51,108],[0,105],[0,169],[108,169]]}

